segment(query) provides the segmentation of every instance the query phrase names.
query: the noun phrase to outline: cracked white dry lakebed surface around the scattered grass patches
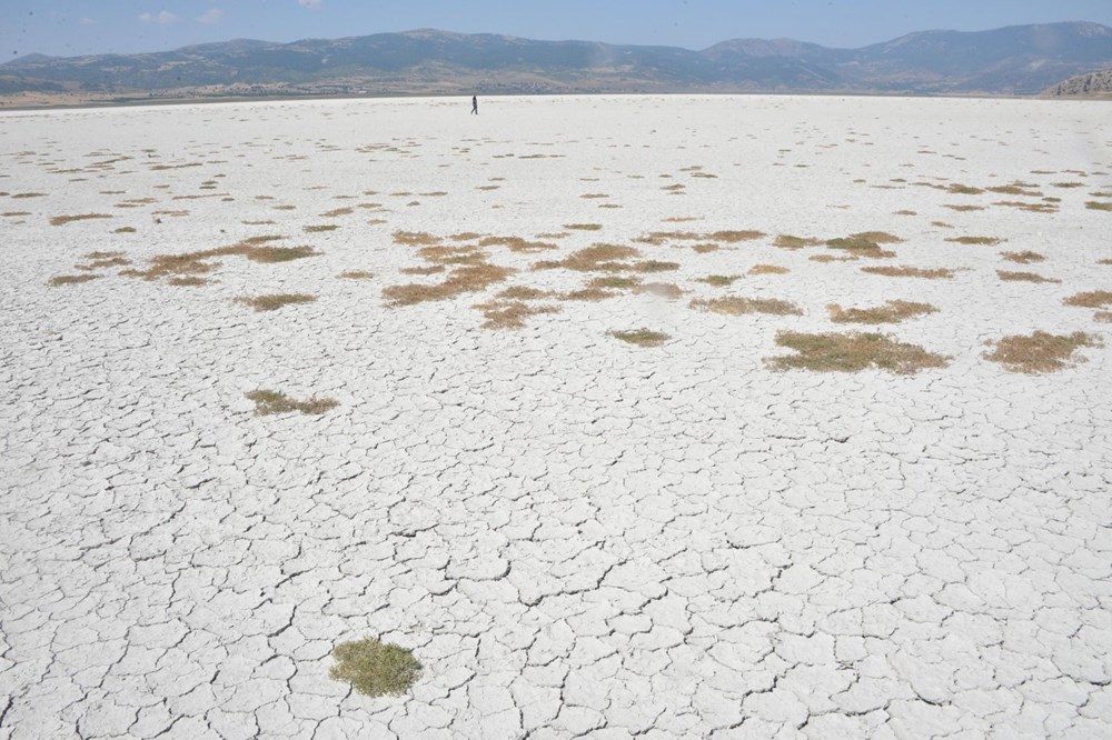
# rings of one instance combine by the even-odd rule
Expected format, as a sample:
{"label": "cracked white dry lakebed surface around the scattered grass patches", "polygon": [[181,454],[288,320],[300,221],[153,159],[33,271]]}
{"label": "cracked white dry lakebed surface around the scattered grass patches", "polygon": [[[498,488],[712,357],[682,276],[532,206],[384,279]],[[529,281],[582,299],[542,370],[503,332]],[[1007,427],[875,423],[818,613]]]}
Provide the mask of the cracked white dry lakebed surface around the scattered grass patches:
{"label": "cracked white dry lakebed surface around the scattered grass patches", "polygon": [[[0,737],[1112,734],[1112,341],[1063,303],[1112,290],[1112,213],[1085,206],[1112,196],[1109,106],[468,110],[0,113]],[[708,236],[728,230],[765,236]],[[517,271],[391,308],[388,287],[448,274],[403,273],[436,264],[399,231],[557,249],[485,247]],[[654,231],[699,238],[636,241]],[[775,246],[863,231],[904,241],[825,262],[844,251]],[[199,287],[78,268],[260,236],[319,254],[219,257]],[[530,269],[595,242],[677,263],[638,277],[686,292],[545,298],[559,312],[483,328],[473,307],[508,287],[617,274]],[[1045,261],[1001,257],[1026,250]],[[861,270],[892,264],[955,273]],[[49,284],[83,273],[101,277]],[[266,293],[317,300],[235,300]],[[691,307],[722,296],[800,313]],[[939,310],[876,328],[826,310],[894,299]],[[671,338],[607,333],[639,328]],[[780,331],[855,329],[949,366],[765,361],[791,354]],[[1105,346],[1039,374],[983,357],[1035,330]],[[257,389],[339,406],[256,416]],[[332,647],[368,636],[414,649],[407,696],[329,680]]]}

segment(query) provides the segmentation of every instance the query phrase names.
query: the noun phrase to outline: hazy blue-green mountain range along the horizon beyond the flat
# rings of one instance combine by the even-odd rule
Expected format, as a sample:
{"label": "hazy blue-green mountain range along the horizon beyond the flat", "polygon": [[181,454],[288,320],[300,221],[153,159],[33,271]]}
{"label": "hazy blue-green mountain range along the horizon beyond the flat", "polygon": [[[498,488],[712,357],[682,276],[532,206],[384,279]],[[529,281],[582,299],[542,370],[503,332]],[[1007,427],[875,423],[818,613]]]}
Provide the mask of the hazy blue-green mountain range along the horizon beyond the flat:
{"label": "hazy blue-green mountain range along the horizon beyond the flat", "polygon": [[924,31],[861,49],[788,39],[675,47],[535,41],[436,30],[0,64],[0,96],[115,99],[459,92],[1034,94],[1112,67],[1112,28],[1069,22]]}

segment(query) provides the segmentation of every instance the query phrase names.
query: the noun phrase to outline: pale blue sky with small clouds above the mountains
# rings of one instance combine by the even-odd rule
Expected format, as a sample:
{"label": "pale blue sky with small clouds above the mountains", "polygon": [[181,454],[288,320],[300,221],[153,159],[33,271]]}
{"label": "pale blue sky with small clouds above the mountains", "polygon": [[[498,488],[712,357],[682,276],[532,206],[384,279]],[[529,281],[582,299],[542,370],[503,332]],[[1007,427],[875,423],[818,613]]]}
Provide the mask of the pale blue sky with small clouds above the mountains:
{"label": "pale blue sky with small clouds above the mountains", "polygon": [[1112,0],[0,0],[0,60],[414,28],[703,49],[733,38],[855,48],[912,31],[1088,20]]}

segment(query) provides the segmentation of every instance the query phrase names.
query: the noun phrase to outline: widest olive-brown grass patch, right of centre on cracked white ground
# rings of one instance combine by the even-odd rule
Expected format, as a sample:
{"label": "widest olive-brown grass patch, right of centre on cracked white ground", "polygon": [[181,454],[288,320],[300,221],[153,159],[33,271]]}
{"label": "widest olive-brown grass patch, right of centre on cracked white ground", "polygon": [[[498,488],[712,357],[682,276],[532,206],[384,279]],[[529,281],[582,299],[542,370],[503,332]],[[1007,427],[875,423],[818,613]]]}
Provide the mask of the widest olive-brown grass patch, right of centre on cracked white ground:
{"label": "widest olive-brown grass patch, right of centre on cracked white ground", "polygon": [[861,372],[876,368],[897,374],[913,374],[927,368],[944,368],[950,360],[880,333],[781,331],[776,334],[776,344],[796,353],[768,358],[766,362],[775,370]]}

